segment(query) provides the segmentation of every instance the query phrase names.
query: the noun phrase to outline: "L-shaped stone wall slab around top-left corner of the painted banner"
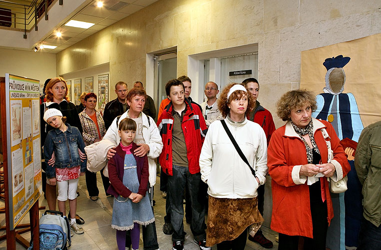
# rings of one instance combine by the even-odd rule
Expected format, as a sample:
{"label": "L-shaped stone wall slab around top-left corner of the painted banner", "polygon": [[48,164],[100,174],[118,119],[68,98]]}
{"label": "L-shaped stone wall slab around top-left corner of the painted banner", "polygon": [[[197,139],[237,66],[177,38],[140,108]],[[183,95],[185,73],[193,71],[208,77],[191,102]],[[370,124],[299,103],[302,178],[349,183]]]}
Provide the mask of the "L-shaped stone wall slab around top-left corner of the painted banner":
{"label": "L-shaped stone wall slab around top-left corner of the painted banner", "polygon": [[279,82],[299,82],[300,51],[320,46],[319,22],[281,29]]}

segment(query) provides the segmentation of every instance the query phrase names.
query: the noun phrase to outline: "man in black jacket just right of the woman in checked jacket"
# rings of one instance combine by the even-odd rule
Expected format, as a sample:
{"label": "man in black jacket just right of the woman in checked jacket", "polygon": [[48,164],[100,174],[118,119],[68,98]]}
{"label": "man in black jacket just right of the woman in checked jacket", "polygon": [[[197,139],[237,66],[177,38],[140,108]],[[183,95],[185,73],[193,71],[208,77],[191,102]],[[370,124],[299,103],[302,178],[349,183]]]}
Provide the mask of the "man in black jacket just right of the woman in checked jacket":
{"label": "man in black jacket just right of the woman in checked jacket", "polygon": [[128,109],[128,104],[126,102],[127,96],[127,83],[123,81],[118,81],[115,84],[115,93],[117,94],[116,99],[107,102],[103,111],[103,120],[106,130],[111,125],[112,121],[116,116],[123,114]]}

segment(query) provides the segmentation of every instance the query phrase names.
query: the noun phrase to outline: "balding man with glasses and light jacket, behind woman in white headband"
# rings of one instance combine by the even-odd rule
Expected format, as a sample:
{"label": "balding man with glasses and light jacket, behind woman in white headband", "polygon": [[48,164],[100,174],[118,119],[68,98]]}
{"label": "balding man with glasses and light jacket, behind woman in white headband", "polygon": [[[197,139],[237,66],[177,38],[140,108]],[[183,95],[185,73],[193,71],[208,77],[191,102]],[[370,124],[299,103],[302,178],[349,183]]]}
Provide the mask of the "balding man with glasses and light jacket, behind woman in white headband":
{"label": "balding man with glasses and light jacket, behind woman in white headband", "polygon": [[219,91],[218,85],[215,82],[209,81],[206,83],[204,92],[207,100],[201,103],[201,108],[207,127],[209,127],[213,121],[224,118],[218,109],[217,94]]}

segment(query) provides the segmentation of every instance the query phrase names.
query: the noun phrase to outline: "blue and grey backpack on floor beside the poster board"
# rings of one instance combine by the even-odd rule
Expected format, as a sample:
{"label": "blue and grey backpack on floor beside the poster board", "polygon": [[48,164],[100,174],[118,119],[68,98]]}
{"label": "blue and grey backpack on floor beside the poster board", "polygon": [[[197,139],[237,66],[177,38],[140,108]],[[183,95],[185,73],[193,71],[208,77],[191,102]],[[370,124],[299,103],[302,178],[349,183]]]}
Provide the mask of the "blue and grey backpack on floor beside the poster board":
{"label": "blue and grey backpack on floor beside the poster board", "polygon": [[[47,214],[47,213],[54,214]],[[33,238],[33,237],[32,237]],[[71,245],[70,223],[60,211],[46,210],[39,219],[40,250],[65,250]],[[28,249],[32,249],[30,244]]]}

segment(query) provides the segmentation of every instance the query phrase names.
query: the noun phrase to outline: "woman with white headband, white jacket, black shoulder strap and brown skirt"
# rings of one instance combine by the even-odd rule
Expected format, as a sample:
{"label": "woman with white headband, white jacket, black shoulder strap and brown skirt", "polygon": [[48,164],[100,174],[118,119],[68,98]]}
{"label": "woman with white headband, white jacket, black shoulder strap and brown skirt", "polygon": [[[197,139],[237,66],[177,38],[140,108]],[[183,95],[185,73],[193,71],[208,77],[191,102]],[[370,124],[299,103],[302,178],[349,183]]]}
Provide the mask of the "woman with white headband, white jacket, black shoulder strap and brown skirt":
{"label": "woman with white headband, white jacket, black shoulder strap and brown skirt", "polygon": [[254,104],[243,85],[227,85],[218,102],[226,118],[210,124],[201,150],[201,179],[209,187],[206,244],[217,244],[218,250],[244,249],[247,227],[252,225],[250,233],[255,234],[263,222],[257,188],[266,181],[267,141],[261,126],[246,118]]}

